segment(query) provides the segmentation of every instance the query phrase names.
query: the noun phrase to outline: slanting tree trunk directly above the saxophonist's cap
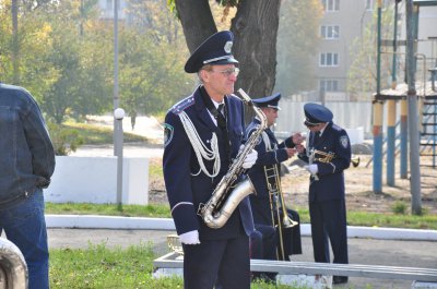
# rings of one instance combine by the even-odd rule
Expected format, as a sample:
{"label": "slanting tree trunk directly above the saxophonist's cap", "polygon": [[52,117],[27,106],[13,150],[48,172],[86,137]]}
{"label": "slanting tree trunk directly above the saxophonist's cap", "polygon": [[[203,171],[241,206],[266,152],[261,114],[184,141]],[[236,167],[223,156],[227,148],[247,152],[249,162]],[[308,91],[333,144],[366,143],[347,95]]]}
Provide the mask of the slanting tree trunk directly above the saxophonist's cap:
{"label": "slanting tree trunk directly above the saxophonist's cap", "polygon": [[208,37],[217,32],[208,0],[176,0],[188,49],[192,53]]}

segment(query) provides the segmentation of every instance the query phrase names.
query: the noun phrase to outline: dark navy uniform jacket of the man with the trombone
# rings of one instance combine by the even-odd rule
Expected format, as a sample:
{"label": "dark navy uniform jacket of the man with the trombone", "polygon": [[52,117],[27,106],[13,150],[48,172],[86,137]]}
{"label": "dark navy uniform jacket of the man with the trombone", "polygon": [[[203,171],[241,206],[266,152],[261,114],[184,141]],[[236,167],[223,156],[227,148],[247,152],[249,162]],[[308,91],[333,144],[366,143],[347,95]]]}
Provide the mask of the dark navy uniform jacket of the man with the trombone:
{"label": "dark navy uniform jacket of the man with the trombone", "polygon": [[[247,127],[246,137],[249,137],[257,127],[260,124],[260,120],[255,118],[252,122]],[[269,190],[265,180],[264,166],[279,166],[282,161],[288,159],[285,147],[294,147],[292,137],[286,139],[282,143],[277,143],[276,137],[270,129],[265,129],[271,146],[277,146],[276,149],[267,152],[265,143],[260,136],[259,143],[255,147],[258,152],[258,159],[253,167],[249,170],[249,177],[255,186],[255,194],[250,195],[250,204],[253,212],[253,220],[256,224],[263,224],[272,226],[272,215],[269,203]],[[277,171],[281,172],[280,167]]]}

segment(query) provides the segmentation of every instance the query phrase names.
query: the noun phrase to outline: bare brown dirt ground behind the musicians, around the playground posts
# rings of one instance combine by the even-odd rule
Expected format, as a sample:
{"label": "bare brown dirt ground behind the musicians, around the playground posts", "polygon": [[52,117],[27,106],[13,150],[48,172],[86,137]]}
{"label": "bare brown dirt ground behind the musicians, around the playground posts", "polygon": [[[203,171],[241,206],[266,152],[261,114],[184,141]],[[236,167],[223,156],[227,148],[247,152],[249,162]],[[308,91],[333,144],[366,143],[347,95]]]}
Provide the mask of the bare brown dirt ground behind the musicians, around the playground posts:
{"label": "bare brown dirt ground behind the musicians, around the playground posts", "polygon": [[[387,185],[386,173],[383,167],[382,174],[382,193],[375,194],[373,192],[373,162],[368,166],[369,155],[358,155],[359,166],[354,168],[351,166],[345,171],[346,180],[346,205],[349,210],[361,210],[371,213],[392,212],[392,207],[397,202],[406,204],[408,209],[411,207],[411,188],[409,179],[400,179],[399,159],[397,159],[397,171],[394,186]],[[287,161],[286,165],[296,164],[296,159]],[[161,166],[162,159],[154,158],[151,165]],[[421,158],[421,195],[422,207],[428,214],[437,214],[437,169],[430,167],[432,158]],[[308,206],[308,172],[298,167],[292,166],[284,177],[282,177],[282,189],[285,202],[290,207],[307,207]],[[409,174],[410,177],[410,174]],[[167,195],[163,178],[150,178],[150,202],[167,204]]]}

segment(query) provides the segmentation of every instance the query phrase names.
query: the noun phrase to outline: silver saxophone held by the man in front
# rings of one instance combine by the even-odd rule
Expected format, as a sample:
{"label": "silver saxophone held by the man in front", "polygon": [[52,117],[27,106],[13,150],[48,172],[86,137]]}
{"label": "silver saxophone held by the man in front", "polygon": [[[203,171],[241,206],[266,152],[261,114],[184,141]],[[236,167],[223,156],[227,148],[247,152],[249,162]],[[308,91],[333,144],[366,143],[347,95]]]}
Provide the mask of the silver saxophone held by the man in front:
{"label": "silver saxophone held by the man in front", "polygon": [[[213,229],[222,228],[243,198],[255,192],[253,184],[249,178],[239,182],[234,188],[232,184],[243,173],[243,162],[246,159],[246,156],[257,145],[258,137],[261,135],[262,131],[267,129],[267,119],[261,109],[253,105],[250,97],[241,88],[238,89],[238,93],[241,95],[245,104],[255,110],[255,113],[261,120],[261,124],[250,135],[244,148],[238,152],[228,171],[218,182],[210,200],[206,204],[201,204],[199,207],[199,215],[202,217],[206,226]],[[233,190],[229,191],[229,189]]]}

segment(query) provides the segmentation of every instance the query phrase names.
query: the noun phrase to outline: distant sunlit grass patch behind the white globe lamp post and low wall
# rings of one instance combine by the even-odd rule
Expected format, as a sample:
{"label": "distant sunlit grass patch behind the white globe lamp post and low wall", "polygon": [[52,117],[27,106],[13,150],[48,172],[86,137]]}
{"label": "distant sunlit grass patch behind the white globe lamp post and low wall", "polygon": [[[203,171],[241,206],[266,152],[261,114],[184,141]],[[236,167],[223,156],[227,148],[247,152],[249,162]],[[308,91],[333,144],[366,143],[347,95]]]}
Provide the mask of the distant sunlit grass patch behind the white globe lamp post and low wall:
{"label": "distant sunlit grass patch behind the white globe lamp post and low wall", "polygon": [[[71,122],[67,121],[62,123],[63,127],[75,129],[79,133],[79,137],[83,140],[84,144],[111,144],[114,142],[114,133],[111,128],[103,128],[94,124],[87,123],[79,123],[79,122]],[[131,133],[123,133],[123,141],[126,143],[137,143],[143,142],[149,143],[147,137],[131,134]]]}

